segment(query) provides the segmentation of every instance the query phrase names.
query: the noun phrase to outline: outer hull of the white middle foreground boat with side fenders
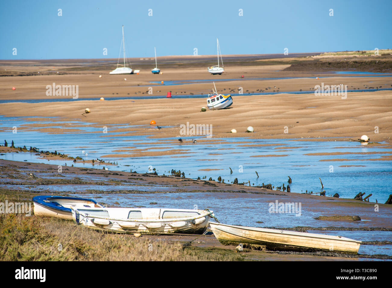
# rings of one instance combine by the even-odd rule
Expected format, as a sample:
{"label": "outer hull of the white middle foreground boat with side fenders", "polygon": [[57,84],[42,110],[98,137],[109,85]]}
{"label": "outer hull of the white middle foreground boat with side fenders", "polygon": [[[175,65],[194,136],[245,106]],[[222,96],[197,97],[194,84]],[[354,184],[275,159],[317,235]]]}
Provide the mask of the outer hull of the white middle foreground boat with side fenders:
{"label": "outer hull of the white middle foreground boat with side fenders", "polygon": [[[145,208],[143,210],[146,209],[150,208]],[[76,224],[81,224],[87,228],[117,233],[134,234],[138,232],[140,234],[203,234],[209,224],[210,214],[207,211],[198,211],[200,211],[200,215],[191,218],[162,219],[161,216],[158,216],[161,214],[158,213],[156,214],[156,217],[154,217],[155,219],[127,219],[94,216],[93,212],[91,212],[89,215],[86,215],[86,212],[80,212],[78,209],[72,209],[72,217]]]}

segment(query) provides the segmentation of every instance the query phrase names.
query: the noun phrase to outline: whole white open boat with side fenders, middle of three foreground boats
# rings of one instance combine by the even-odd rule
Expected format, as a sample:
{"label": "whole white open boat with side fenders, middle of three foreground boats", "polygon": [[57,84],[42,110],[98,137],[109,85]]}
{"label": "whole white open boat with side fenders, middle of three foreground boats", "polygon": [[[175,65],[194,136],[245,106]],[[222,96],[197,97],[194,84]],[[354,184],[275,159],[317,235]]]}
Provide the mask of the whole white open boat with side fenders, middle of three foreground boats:
{"label": "whole white open boat with side fenders, middle of three foreground boats", "polygon": [[76,208],[71,207],[76,224],[96,230],[120,233],[203,234],[212,211],[159,208]]}

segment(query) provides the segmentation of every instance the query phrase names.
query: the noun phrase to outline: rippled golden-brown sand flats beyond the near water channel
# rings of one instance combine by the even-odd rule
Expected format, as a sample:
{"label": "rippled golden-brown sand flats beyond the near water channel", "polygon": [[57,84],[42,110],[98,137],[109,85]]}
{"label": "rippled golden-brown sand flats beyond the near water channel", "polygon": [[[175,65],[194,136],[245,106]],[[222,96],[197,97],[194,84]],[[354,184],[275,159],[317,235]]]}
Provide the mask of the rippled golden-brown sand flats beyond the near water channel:
{"label": "rippled golden-brown sand flats beyond the near water channel", "polygon": [[[142,69],[139,75],[109,75],[113,59],[109,59],[107,63],[97,62],[96,59],[0,61],[2,74],[6,72],[9,75],[15,75],[11,71],[24,70],[36,73],[24,77],[0,77],[2,100],[64,98],[72,100],[71,96],[47,96],[46,86],[52,83],[79,85],[78,99],[69,102],[2,103],[0,115],[47,117],[54,122],[50,128],[34,123],[35,119],[30,118],[20,129],[35,127],[39,131],[48,133],[64,133],[61,128],[56,128],[55,123],[58,119],[51,118],[61,117],[62,121],[76,119],[94,123],[97,126],[107,126],[108,137],[110,137],[111,124],[143,125],[116,130],[116,132],[123,132],[123,135],[149,135],[155,138],[181,137],[180,124],[189,122],[190,124],[212,124],[213,138],[348,140],[348,138],[358,139],[366,134],[372,142],[390,142],[392,105],[391,91],[388,90],[348,92],[347,99],[341,99],[340,96],[315,96],[314,93],[247,95],[261,91],[273,93],[278,90],[279,92],[297,91],[300,93],[300,90],[312,90],[315,85],[321,85],[322,82],[325,85],[347,85],[349,90],[363,89],[365,86],[392,87],[392,77],[383,77],[388,74],[367,77],[367,75],[315,72],[310,68],[309,71],[286,69],[298,61],[324,63],[336,59],[341,60],[342,57],[344,56],[311,56],[310,54],[292,54],[290,57],[227,55],[224,56],[227,59],[225,62],[227,65],[225,65],[223,75],[211,75],[207,72],[207,67],[214,59],[212,56],[197,56],[196,58],[162,56],[158,58],[158,62],[163,65],[163,74],[158,75],[150,72],[149,65],[152,65],[152,58],[132,59],[133,67]],[[355,60],[357,56],[346,57]],[[380,57],[385,58],[386,61],[391,60],[389,56]],[[373,59],[371,56],[361,56],[361,59],[365,58]],[[4,71],[5,69],[7,70]],[[45,75],[39,75],[38,71]],[[99,75],[102,77],[100,78]],[[242,75],[243,78],[241,78]],[[124,78],[127,80],[125,81]],[[222,79],[223,81],[220,81]],[[162,85],[161,81],[168,84]],[[187,84],[174,85],[176,83],[171,81]],[[176,95],[185,94],[207,95],[212,90],[212,81],[216,81],[218,92],[238,93],[239,87],[242,87],[243,95],[233,96],[233,104],[228,109],[206,112],[201,112],[201,107],[207,106],[205,98],[176,98]],[[13,86],[16,90],[11,90]],[[152,94],[148,93],[149,87],[152,88]],[[171,91],[172,98],[140,99],[140,96],[166,95],[169,91]],[[99,101],[100,97],[105,99],[132,97],[133,99]],[[84,98],[96,100],[83,100]],[[84,113],[85,108],[89,108],[91,113]],[[150,126],[151,120],[156,121],[156,125],[163,128],[158,130],[156,125]],[[254,133],[245,132],[248,126],[254,127]],[[77,128],[77,126],[73,127],[74,131],[77,131]],[[233,128],[238,133],[229,133]]]}

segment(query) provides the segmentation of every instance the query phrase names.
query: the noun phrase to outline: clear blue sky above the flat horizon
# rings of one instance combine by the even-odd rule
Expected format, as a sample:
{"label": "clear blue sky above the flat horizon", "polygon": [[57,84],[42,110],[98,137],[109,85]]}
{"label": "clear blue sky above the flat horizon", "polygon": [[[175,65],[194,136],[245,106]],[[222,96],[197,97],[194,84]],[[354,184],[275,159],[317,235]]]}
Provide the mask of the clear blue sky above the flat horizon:
{"label": "clear blue sky above the flat horizon", "polygon": [[118,58],[121,25],[127,57],[215,54],[217,37],[222,54],[391,49],[391,11],[391,0],[3,0],[0,59]]}

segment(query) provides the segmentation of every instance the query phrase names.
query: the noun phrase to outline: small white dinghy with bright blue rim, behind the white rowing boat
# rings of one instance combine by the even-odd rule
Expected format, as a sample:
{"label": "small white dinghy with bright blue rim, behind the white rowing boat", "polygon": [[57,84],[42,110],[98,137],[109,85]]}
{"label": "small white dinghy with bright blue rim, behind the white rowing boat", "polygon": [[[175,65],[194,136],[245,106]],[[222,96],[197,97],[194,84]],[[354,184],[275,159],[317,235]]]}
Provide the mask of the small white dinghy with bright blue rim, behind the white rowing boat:
{"label": "small white dinghy with bright blue rim, behind the white rowing boat", "polygon": [[65,196],[35,196],[34,214],[39,217],[55,217],[72,220],[71,206],[102,208],[103,205],[93,199]]}

